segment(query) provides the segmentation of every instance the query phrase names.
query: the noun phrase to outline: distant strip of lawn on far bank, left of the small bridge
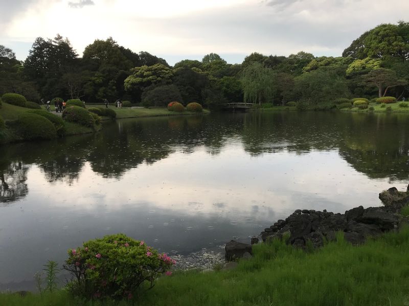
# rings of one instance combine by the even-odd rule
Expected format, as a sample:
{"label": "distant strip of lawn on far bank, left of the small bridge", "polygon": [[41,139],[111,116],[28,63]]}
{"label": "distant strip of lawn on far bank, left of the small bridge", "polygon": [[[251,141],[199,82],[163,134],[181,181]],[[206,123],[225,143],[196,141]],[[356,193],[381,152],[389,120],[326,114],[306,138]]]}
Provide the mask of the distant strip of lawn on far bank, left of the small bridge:
{"label": "distant strip of lawn on far bank, left of the small bridge", "polygon": [[[87,105],[87,107],[102,107],[104,105]],[[167,108],[116,108],[109,106],[117,113],[117,119],[123,118],[135,118],[135,117],[153,117],[153,116],[175,116],[175,115],[194,115],[196,113],[191,113],[185,111],[183,113],[177,113],[169,111]],[[209,114],[208,110],[203,110],[203,114]]]}

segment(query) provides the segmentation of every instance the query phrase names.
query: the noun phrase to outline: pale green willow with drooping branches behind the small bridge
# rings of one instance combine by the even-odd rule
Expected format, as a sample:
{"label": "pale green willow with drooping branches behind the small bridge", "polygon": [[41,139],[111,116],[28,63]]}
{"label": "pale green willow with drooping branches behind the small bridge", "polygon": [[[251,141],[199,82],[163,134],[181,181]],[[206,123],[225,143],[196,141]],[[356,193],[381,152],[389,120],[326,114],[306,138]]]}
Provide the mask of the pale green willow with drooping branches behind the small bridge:
{"label": "pale green willow with drooping branches behind the small bridge", "polygon": [[259,62],[252,63],[242,71],[244,103],[267,103],[274,99],[276,93],[274,70],[264,67]]}

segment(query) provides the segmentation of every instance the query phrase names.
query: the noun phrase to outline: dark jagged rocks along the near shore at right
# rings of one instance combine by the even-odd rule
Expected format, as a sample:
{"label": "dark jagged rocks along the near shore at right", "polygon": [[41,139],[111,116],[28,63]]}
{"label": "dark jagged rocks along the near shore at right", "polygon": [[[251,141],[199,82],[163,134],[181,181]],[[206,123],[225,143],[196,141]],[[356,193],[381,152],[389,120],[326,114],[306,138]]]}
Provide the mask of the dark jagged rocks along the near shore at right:
{"label": "dark jagged rocks along the near shore at right", "polygon": [[[226,261],[249,257],[252,245],[268,242],[272,239],[285,239],[287,244],[294,247],[321,247],[325,241],[336,239],[337,232],[344,232],[346,241],[353,245],[362,244],[368,237],[376,237],[385,232],[399,228],[404,220],[400,215],[402,207],[409,203],[409,185],[406,192],[398,191],[395,187],[379,194],[384,206],[362,206],[353,208],[345,214],[315,210],[296,210],[285,220],[278,220],[265,228],[258,237],[251,239],[251,244],[230,241],[225,246]],[[260,238],[260,239],[259,239]]]}

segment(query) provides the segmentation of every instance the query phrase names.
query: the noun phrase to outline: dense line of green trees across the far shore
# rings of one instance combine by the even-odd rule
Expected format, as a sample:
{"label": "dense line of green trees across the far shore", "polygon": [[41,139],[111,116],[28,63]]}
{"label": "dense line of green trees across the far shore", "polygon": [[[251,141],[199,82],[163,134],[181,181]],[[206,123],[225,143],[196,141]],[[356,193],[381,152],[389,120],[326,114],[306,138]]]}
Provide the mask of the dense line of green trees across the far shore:
{"label": "dense line of green trees across the far shore", "polygon": [[109,37],[85,47],[82,57],[68,38],[35,39],[25,61],[0,45],[0,94],[28,100],[81,98],[90,103],[122,98],[144,106],[197,101],[209,108],[246,101],[320,104],[342,97],[409,94],[409,22],[380,24],[340,57],[300,51],[288,57],[252,53],[228,64],[211,53],[170,66],[148,52],[135,53]]}

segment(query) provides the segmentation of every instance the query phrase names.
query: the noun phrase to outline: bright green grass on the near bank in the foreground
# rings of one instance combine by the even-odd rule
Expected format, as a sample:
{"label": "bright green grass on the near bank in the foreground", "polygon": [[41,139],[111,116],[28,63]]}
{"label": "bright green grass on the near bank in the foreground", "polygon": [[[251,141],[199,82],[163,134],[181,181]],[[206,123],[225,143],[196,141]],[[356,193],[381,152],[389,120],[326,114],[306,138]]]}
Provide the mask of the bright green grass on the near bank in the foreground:
{"label": "bright green grass on the near bank in the foreground", "polygon": [[[375,306],[409,303],[409,226],[357,247],[338,235],[337,242],[312,252],[274,241],[257,245],[254,253],[252,260],[241,261],[234,270],[187,271],[162,277],[136,304]],[[0,305],[3,304],[84,303],[77,303],[59,291],[43,298],[2,294]],[[88,302],[86,305],[99,304]],[[131,302],[123,301],[123,304]]]}

